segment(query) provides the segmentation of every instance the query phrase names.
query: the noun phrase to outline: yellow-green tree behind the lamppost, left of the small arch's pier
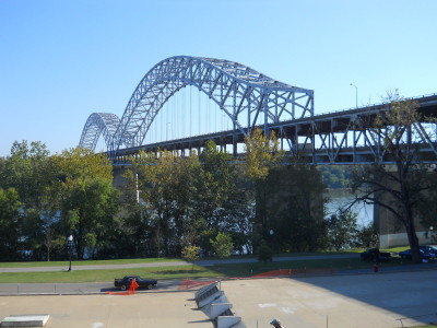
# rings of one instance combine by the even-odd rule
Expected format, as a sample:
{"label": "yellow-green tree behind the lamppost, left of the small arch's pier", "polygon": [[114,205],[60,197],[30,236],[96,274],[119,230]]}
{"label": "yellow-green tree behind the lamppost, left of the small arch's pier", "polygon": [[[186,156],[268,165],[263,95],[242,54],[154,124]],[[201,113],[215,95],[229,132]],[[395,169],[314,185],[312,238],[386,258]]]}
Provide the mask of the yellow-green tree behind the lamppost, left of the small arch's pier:
{"label": "yellow-green tree behind the lamppost, left of the small arch's pier", "polygon": [[114,247],[109,241],[117,226],[119,191],[113,187],[107,157],[72,149],[54,156],[51,164],[59,176],[52,189],[57,191],[54,209],[60,209],[58,233],[73,235],[79,258],[85,249],[95,255]]}

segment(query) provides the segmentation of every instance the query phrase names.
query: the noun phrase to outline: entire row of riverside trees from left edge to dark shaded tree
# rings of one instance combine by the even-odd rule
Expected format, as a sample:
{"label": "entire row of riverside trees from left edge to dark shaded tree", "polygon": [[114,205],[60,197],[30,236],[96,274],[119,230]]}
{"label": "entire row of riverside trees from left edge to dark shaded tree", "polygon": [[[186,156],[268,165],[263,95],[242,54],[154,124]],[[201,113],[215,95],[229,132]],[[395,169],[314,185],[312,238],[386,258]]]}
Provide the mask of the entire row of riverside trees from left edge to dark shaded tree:
{"label": "entire row of riverside trees from left edge to dark shaded tree", "polygon": [[[2,196],[4,203],[16,204],[14,214],[2,210],[9,214],[1,221],[5,237],[0,244],[13,245],[2,258],[66,259],[70,234],[78,258],[180,256],[187,246],[226,257],[253,253],[262,243],[275,250],[318,248],[315,222],[322,203],[311,188],[303,189],[308,202],[296,187],[272,178],[283,156],[277,140],[260,131],[252,136],[257,142],[250,143],[250,152],[262,160],[251,156],[253,165],[234,161],[212,141],[199,155],[140,153],[125,168],[122,195],[113,187],[113,165],[105,155],[84,149],[49,155],[42,143],[14,143],[12,155],[0,160],[0,188],[9,192]],[[315,177],[314,172],[308,175]],[[283,189],[270,198],[275,184]],[[275,199],[285,204],[277,213]]]}

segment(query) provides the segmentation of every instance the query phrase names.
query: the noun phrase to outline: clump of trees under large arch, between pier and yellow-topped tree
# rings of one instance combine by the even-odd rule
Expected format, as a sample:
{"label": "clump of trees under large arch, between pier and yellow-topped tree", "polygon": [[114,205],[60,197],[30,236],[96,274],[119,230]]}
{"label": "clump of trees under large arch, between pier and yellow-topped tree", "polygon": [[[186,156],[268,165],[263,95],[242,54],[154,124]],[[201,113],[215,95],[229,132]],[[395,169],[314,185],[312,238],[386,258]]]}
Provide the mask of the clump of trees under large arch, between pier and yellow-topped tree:
{"label": "clump of trees under large arch, between pier and yellow-topped tree", "polygon": [[206,142],[199,156],[140,153],[126,177],[127,195],[135,195],[137,186],[140,190],[140,203],[134,206],[138,200],[131,197],[130,209],[142,209],[134,220],[147,222],[143,245],[153,239],[152,248],[166,256],[179,256],[185,246],[196,245],[208,255],[213,251],[210,239],[218,232],[235,238],[237,249],[247,245],[249,198],[233,157],[214,142]]}

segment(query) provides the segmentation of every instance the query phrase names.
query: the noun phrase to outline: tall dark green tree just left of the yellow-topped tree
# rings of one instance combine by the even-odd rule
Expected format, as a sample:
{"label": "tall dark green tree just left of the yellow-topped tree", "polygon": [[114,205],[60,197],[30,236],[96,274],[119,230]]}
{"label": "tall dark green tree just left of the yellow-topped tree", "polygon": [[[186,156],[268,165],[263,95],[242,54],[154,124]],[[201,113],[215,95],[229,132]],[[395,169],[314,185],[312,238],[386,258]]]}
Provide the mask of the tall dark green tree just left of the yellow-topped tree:
{"label": "tall dark green tree just left of the yellow-topped tree", "polygon": [[192,202],[197,243],[208,254],[212,250],[210,239],[222,231],[232,235],[243,251],[250,235],[247,222],[251,204],[238,167],[213,141],[205,143],[199,160]]}

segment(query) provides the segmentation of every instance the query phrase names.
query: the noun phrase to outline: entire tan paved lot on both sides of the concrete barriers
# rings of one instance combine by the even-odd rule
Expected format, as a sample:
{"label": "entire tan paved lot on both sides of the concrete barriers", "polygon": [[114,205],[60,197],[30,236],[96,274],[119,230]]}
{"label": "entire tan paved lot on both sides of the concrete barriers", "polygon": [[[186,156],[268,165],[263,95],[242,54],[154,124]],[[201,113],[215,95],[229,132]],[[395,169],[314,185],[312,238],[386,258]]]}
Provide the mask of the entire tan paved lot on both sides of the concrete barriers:
{"label": "entire tan paved lot on both sides of the concrete barriers", "polygon": [[[221,288],[235,315],[243,318],[237,328],[271,327],[272,318],[280,318],[286,328],[392,328],[402,327],[399,318],[421,315],[425,316],[415,324],[437,321],[435,270],[229,280]],[[213,327],[197,309],[192,291],[0,296],[1,318],[25,314],[49,314],[48,328]]]}

